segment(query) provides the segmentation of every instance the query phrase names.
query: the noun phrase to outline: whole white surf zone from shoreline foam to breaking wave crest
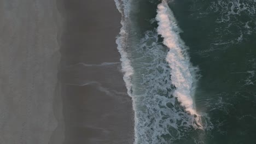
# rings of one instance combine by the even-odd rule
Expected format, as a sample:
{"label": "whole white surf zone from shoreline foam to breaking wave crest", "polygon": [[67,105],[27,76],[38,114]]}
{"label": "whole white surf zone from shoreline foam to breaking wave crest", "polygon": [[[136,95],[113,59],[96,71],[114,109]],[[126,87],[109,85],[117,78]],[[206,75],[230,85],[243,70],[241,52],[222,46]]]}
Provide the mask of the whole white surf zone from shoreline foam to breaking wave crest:
{"label": "whole white surf zone from shoreline foam to breaking wave crest", "polygon": [[170,143],[193,130],[201,133],[204,128],[194,103],[199,70],[190,63],[167,2],[155,9],[152,21],[158,27],[145,32],[136,26],[132,12],[137,3],[115,2],[122,18],[116,42],[135,112],[134,143]]}

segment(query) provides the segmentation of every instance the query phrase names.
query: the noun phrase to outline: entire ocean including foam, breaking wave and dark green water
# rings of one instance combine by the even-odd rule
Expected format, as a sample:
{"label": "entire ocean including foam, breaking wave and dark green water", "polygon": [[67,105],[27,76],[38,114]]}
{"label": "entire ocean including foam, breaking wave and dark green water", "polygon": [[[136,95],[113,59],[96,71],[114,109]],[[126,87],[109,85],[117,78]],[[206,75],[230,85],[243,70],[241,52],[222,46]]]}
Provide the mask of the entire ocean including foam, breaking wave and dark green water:
{"label": "entire ocean including foam, breaking wave and dark green water", "polygon": [[256,1],[115,2],[134,143],[256,143]]}

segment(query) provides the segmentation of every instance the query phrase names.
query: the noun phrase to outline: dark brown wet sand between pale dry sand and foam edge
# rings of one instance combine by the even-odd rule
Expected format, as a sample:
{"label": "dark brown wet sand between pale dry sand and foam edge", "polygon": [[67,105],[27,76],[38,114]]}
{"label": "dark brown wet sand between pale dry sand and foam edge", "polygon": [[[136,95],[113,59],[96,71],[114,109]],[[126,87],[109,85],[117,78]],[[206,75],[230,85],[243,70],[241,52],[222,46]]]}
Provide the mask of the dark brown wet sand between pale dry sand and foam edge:
{"label": "dark brown wet sand between pale dry sand and foam edge", "polygon": [[60,73],[64,143],[132,143],[132,101],[120,63],[97,65],[120,62],[115,44],[120,14],[114,1],[63,0],[60,11],[65,19]]}

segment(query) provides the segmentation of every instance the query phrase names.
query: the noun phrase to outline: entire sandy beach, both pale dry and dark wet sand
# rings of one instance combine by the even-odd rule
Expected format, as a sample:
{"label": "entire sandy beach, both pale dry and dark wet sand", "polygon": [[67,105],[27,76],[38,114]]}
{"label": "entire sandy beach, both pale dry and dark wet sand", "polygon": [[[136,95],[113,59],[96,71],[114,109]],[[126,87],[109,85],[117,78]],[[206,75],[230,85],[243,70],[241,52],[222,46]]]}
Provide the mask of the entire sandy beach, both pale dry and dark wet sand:
{"label": "entire sandy beach, both pale dry and dark wet sand", "polygon": [[0,143],[132,143],[119,29],[114,1],[0,1]]}

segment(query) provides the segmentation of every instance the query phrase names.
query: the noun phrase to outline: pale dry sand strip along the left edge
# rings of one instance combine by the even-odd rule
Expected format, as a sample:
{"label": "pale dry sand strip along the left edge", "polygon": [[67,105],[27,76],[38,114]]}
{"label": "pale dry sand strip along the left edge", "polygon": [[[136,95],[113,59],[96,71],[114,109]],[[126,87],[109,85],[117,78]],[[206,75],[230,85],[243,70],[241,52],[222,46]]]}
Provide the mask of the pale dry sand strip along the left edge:
{"label": "pale dry sand strip along the left edge", "polygon": [[0,1],[0,143],[63,143],[60,20],[56,1]]}

